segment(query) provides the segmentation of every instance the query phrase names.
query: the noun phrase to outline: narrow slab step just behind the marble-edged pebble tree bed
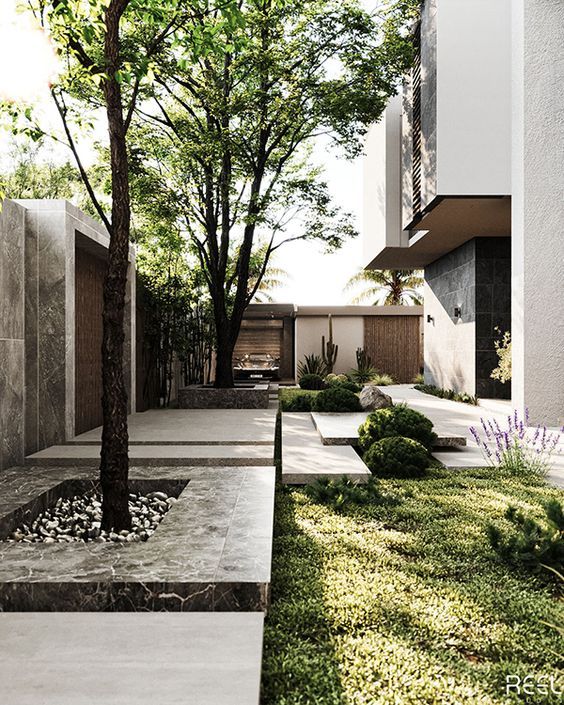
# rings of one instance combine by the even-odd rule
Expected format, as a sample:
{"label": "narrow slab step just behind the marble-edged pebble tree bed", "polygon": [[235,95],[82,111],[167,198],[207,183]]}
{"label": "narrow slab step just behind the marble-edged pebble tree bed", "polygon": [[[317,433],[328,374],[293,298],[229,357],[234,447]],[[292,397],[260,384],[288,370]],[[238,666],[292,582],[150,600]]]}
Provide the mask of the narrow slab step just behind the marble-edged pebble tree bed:
{"label": "narrow slab step just behind the marble-edged pebble tree bed", "polygon": [[[131,445],[130,461],[137,465],[269,465],[274,460],[274,445]],[[28,455],[26,465],[96,466],[100,462],[98,445],[69,444],[51,446]]]}

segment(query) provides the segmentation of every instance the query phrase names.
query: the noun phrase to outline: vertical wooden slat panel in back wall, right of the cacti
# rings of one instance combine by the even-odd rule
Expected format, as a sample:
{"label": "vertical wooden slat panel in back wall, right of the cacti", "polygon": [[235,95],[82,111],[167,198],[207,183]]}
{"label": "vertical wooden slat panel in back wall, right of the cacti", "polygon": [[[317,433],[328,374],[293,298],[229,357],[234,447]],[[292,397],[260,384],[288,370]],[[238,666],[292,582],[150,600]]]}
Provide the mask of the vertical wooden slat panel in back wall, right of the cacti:
{"label": "vertical wooden slat panel in back wall, right of the cacti", "polygon": [[379,372],[400,384],[413,381],[421,365],[420,316],[366,316],[364,349]]}

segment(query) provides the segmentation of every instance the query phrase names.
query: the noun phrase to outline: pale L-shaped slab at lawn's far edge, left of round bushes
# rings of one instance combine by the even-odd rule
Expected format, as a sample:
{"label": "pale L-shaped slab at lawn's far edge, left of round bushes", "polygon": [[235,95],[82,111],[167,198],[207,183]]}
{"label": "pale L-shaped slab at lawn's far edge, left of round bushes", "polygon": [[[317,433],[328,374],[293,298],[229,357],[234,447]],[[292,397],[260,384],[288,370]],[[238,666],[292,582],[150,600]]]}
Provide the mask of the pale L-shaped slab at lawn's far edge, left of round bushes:
{"label": "pale L-shaped slab at lawn's far edge, left of round bushes", "polygon": [[307,485],[321,477],[366,482],[370,470],[351,446],[321,442],[310,413],[282,414],[282,482]]}

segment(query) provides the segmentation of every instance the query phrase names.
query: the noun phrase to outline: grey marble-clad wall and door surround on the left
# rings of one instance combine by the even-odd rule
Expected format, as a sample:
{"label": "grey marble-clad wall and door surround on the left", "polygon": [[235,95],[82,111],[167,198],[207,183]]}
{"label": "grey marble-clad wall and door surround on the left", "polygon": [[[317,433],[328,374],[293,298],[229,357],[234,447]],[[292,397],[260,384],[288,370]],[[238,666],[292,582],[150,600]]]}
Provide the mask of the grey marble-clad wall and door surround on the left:
{"label": "grey marble-clad wall and door surround on the left", "polygon": [[[105,229],[62,200],[5,200],[0,214],[0,469],[75,435],[75,251],[105,253]],[[130,273],[134,272],[131,250]],[[125,374],[135,404],[135,284]]]}

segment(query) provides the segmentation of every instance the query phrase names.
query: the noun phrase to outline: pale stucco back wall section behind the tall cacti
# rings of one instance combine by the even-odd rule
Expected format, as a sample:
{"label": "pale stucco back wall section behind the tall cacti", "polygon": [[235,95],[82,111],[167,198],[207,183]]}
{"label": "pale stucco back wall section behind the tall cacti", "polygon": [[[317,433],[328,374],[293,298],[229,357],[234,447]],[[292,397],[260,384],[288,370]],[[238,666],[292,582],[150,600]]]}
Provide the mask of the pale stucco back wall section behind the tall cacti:
{"label": "pale stucco back wall section behind the tall cacti", "polygon": [[[305,355],[321,355],[321,336],[327,340],[327,316],[298,316],[296,318],[296,370]],[[356,350],[364,345],[364,318],[362,316],[334,316],[333,342],[339,346],[336,374],[356,367]],[[297,375],[297,371],[296,371]]]}

